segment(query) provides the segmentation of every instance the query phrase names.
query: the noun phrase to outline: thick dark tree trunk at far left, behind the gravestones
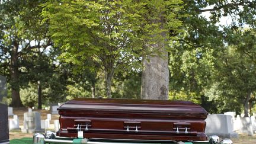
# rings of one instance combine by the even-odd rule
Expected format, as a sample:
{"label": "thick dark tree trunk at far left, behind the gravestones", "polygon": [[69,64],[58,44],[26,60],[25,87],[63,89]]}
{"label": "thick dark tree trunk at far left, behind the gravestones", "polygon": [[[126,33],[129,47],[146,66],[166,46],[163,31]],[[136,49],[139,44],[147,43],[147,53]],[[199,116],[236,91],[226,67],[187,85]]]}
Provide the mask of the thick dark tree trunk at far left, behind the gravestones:
{"label": "thick dark tree trunk at far left, behind the gravestones", "polygon": [[20,82],[19,82],[19,71],[18,71],[18,43],[14,43],[14,47],[11,50],[11,65],[10,65],[10,76],[11,76],[11,106],[22,107],[20,99]]}

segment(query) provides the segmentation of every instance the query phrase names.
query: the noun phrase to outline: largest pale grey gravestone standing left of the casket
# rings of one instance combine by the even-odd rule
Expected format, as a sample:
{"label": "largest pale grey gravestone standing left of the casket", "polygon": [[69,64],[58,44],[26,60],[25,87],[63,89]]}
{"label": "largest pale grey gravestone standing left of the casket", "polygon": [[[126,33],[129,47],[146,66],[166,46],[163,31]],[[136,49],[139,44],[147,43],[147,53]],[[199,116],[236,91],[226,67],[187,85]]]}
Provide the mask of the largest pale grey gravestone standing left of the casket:
{"label": "largest pale grey gravestone standing left of the casket", "polygon": [[21,130],[23,133],[35,133],[35,132],[44,132],[41,129],[41,116],[37,111],[28,111],[24,113],[24,128]]}

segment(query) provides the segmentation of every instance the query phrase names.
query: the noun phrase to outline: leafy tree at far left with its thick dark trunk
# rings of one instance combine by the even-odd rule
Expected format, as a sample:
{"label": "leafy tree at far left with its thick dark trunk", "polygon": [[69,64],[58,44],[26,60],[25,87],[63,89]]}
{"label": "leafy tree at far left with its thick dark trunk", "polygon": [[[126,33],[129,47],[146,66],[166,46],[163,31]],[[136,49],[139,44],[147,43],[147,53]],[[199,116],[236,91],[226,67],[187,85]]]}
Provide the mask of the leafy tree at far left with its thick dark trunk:
{"label": "leafy tree at far left with its thick dark trunk", "polygon": [[[23,75],[23,61],[31,50],[46,49],[50,40],[46,37],[47,25],[41,24],[41,7],[44,1],[1,1],[0,2],[0,55],[1,67],[11,85],[12,103],[21,106],[20,87],[28,84]],[[31,55],[30,55],[31,56]]]}

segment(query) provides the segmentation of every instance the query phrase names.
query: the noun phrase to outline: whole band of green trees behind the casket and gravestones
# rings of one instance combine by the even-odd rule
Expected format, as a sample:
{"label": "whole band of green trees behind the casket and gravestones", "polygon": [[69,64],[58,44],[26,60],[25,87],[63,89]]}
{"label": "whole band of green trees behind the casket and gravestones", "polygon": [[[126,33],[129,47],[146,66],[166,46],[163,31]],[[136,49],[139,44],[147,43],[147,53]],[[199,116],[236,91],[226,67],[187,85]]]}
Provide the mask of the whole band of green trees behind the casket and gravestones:
{"label": "whole band of green trees behind the casket and gravestones", "polygon": [[[254,111],[253,1],[0,4],[0,74],[14,107],[103,96],[190,100],[210,113]],[[230,22],[220,23],[225,17]]]}

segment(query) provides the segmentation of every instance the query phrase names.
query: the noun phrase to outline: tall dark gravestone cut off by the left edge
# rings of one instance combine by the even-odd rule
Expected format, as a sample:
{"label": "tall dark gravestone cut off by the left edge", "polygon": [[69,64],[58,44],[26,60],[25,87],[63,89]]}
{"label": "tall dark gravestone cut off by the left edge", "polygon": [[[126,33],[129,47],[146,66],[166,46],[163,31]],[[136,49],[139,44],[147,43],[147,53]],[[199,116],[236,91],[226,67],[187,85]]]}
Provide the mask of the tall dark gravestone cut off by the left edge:
{"label": "tall dark gravestone cut off by the left edge", "polygon": [[9,143],[7,81],[0,75],[0,143]]}

